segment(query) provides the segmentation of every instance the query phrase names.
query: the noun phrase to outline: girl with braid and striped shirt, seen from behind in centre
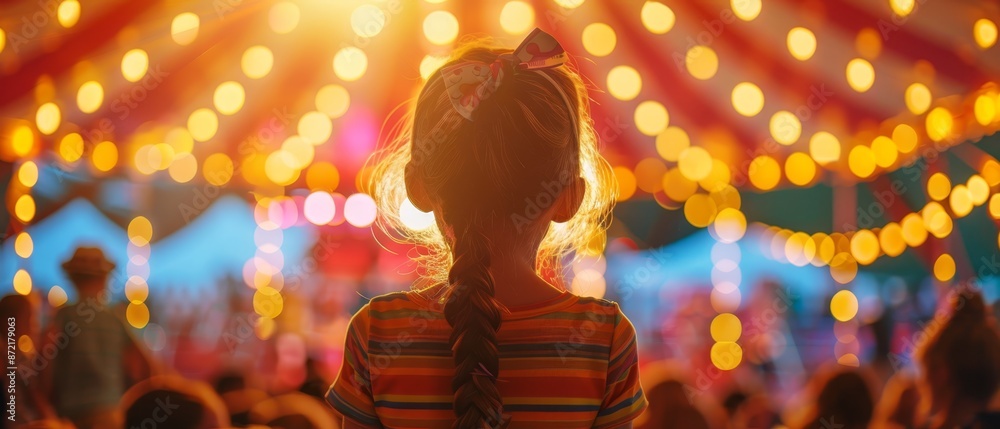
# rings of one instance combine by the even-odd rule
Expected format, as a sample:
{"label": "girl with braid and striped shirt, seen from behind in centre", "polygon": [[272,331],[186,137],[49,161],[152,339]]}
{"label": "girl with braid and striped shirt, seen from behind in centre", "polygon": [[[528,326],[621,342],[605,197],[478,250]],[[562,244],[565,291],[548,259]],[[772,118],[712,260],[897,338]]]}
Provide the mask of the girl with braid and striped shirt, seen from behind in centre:
{"label": "girl with braid and striped shirt, seen from behind in centre", "polygon": [[[645,408],[618,305],[545,280],[603,232],[617,189],[566,60],[538,29],[513,52],[465,46],[379,154],[381,225],[425,249],[431,286],[351,320],[327,393],[345,427],[620,428]],[[407,198],[437,228],[405,227]]]}

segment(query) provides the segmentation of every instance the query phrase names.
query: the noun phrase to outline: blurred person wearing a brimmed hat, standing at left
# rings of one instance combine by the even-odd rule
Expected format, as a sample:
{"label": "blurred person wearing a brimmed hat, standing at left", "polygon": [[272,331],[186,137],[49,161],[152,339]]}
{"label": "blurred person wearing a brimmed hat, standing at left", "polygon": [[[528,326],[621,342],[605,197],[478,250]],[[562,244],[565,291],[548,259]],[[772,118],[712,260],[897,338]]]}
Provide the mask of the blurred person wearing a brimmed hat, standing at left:
{"label": "blurred person wearing a brimmed hat, standing at left", "polygon": [[143,346],[109,305],[114,268],[101,249],[76,249],[63,270],[78,300],[59,309],[45,336],[58,350],[44,370],[45,385],[59,415],[79,429],[120,427],[122,395],[151,374]]}

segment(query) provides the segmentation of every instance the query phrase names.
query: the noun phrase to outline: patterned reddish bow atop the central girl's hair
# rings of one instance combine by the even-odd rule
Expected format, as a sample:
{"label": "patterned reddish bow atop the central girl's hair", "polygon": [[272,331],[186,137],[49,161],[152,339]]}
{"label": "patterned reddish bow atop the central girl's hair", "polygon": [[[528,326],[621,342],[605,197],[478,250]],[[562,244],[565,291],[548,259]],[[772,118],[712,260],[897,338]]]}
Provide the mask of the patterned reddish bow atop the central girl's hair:
{"label": "patterned reddish bow atop the central girl's hair", "polygon": [[514,70],[538,70],[558,67],[566,61],[566,51],[559,42],[549,33],[536,28],[513,54],[503,54],[490,64],[476,61],[455,64],[441,69],[441,74],[451,104],[471,121],[472,112],[500,87],[504,62],[513,65]]}

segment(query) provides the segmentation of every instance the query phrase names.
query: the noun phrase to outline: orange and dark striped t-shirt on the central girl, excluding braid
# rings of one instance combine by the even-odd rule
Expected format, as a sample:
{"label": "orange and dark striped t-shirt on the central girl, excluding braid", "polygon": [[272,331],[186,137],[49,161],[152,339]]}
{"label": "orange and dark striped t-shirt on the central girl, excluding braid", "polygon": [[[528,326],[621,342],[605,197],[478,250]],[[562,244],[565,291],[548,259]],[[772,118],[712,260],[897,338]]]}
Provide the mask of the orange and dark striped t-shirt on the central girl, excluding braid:
{"label": "orange and dark striped t-shirt on the central girl, excluding braid", "polygon": [[[454,361],[439,295],[375,297],[348,327],[327,401],[370,427],[450,428]],[[635,328],[618,304],[565,292],[503,313],[497,386],[511,429],[610,428],[646,407]]]}

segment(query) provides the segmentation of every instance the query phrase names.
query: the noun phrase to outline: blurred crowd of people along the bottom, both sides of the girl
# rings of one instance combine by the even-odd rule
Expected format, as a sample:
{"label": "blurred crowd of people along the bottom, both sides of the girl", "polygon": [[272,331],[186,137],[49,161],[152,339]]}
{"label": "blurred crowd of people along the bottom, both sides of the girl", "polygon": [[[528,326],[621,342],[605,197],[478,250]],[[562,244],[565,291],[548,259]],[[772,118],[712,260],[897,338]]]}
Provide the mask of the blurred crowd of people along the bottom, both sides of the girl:
{"label": "blurred crowd of people along the bottom, both sides of the girl", "polygon": [[[79,249],[64,269],[78,299],[54,314],[38,314],[32,295],[0,300],[0,315],[17,324],[8,344],[20,335],[35,341],[30,353],[8,354],[16,377],[5,380],[11,383],[5,391],[16,421],[5,415],[2,427],[340,427],[323,400],[333,372],[312,357],[294,383],[274,383],[272,373],[254,367],[193,376],[158,363],[119,307],[108,304],[113,265],[100,250]],[[766,383],[743,380],[719,394],[692,379],[683,359],[645,362],[640,372],[650,406],[634,427],[1000,428],[996,318],[972,288],[954,289],[948,300],[919,333],[913,370],[889,376],[871,366],[830,364],[794,392],[776,395]]]}

